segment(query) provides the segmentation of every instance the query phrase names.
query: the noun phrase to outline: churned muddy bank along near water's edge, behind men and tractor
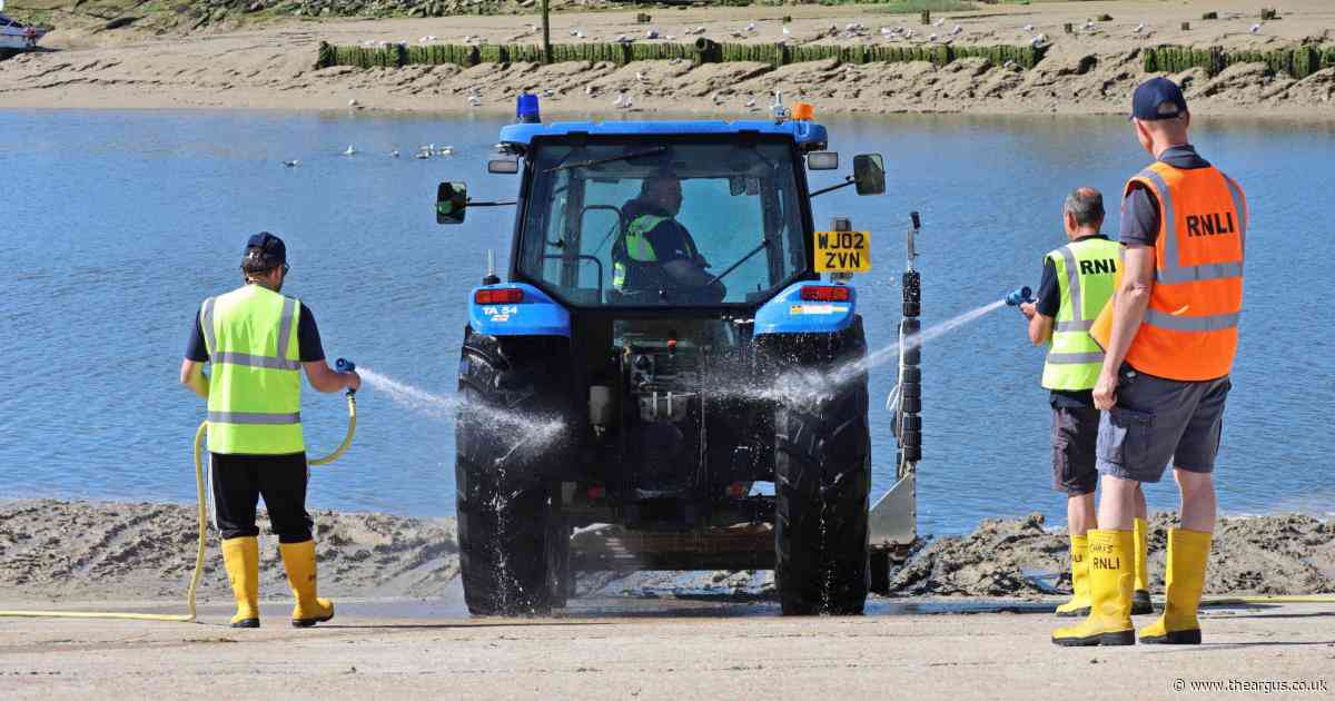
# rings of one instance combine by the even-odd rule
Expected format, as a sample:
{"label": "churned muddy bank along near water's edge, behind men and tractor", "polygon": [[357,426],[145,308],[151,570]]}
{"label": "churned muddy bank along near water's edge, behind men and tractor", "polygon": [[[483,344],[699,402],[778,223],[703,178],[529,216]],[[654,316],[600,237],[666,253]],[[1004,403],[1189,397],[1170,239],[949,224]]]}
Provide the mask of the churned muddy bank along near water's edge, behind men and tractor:
{"label": "churned muddy bank along near water's edge, behind men and tractor", "polygon": [[[312,511],[320,589],[359,598],[437,597],[458,575],[453,518]],[[1171,514],[1151,522],[1152,588],[1161,592]],[[266,597],[287,596],[276,538],[262,523]],[[0,589],[8,600],[162,601],[182,596],[194,567],[194,506],[24,499],[0,503]],[[1039,514],[988,519],[967,535],[928,538],[892,574],[892,597],[1051,598],[1069,592],[1067,538]],[[581,596],[734,594],[768,598],[768,571],[583,574]],[[1207,594],[1335,593],[1335,522],[1283,514],[1222,519]],[[215,533],[200,600],[228,601]]]}

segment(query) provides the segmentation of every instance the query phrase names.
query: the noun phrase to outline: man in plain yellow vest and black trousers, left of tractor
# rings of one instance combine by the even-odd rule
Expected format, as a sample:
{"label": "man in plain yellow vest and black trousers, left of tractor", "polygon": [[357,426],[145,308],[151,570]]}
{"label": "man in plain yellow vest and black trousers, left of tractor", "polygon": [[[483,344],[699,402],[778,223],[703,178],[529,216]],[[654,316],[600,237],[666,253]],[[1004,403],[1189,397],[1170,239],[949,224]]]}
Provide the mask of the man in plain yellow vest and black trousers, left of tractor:
{"label": "man in plain yellow vest and black trousers, left of tractor", "polygon": [[300,371],[324,393],[356,390],[362,379],[324,362],[311,310],[279,294],[287,271],[282,239],[267,231],[251,236],[242,259],[246,284],[204,300],[180,366],[182,385],[208,401],[214,505],[236,596],[232,628],[259,628],[255,507],[260,495],[296,597],[292,625],[334,618],[334,602],[315,596]]}

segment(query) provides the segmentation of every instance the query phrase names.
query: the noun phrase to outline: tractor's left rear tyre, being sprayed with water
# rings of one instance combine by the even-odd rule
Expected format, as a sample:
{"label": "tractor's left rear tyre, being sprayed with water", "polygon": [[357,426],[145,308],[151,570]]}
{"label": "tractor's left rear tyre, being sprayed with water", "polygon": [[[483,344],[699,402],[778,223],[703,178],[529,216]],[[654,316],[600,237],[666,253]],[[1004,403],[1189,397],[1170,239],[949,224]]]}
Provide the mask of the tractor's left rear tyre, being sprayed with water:
{"label": "tractor's left rear tyre, being sprayed with water", "polygon": [[[551,481],[570,442],[565,339],[470,334],[455,423],[459,565],[477,616],[542,616],[551,608]],[[522,417],[517,422],[513,417]],[[555,435],[534,429],[566,422]]]}

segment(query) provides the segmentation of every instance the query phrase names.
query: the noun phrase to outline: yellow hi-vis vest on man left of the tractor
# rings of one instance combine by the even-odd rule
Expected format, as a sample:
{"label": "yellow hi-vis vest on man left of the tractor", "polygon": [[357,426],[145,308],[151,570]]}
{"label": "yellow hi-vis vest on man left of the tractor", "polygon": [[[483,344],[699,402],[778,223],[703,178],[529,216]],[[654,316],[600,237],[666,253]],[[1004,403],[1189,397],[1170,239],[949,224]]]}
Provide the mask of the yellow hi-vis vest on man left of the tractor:
{"label": "yellow hi-vis vest on man left of the tractor", "polygon": [[258,284],[206,299],[208,450],[302,453],[300,303]]}

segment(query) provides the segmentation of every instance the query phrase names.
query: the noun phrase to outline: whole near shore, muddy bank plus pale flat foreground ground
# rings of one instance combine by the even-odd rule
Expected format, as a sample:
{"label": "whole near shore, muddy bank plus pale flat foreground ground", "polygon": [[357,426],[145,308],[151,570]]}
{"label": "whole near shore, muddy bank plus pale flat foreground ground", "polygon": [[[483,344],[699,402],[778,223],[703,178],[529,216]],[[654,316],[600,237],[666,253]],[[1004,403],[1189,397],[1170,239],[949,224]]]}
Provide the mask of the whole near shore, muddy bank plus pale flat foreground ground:
{"label": "whole near shore, muddy bank plus pale flat foreground ground", "polygon": [[[470,618],[450,519],[314,514],[322,593],[338,616],[286,625],[290,602],[263,537],[264,628],[226,626],[231,597],[211,542],[194,624],[0,618],[0,690],[228,698],[1157,698],[1191,684],[1251,684],[1230,696],[1324,697],[1331,604],[1219,601],[1220,594],[1335,592],[1335,523],[1300,515],[1224,519],[1211,555],[1206,644],[1059,649],[1060,594],[1036,570],[1064,567],[1064,537],[1031,517],[934,538],[856,618],[781,618],[765,574],[591,577],[545,620]],[[1161,592],[1164,527],[1151,569]],[[0,609],[179,613],[194,510],[175,505],[23,501],[0,505]],[[1064,589],[1065,582],[1057,581]],[[741,596],[740,596],[741,594]],[[1137,625],[1149,622],[1148,617]],[[1263,693],[1262,684],[1288,684]],[[1298,684],[1312,685],[1300,692]],[[1322,686],[1324,684],[1324,686]],[[1183,685],[1183,686],[1177,686]],[[1304,686],[1306,688],[1306,686]],[[1324,689],[1324,690],[1323,690]]]}

